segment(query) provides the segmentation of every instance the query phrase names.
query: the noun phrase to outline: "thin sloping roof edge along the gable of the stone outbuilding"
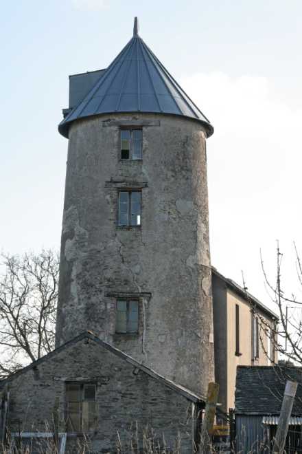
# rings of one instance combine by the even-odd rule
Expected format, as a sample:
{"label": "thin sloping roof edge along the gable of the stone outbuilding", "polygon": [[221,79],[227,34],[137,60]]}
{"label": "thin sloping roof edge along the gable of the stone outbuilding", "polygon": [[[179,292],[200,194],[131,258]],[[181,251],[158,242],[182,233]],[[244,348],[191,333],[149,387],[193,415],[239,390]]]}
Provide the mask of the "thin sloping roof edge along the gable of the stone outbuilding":
{"label": "thin sloping roof edge along the gable of the stone outbuilding", "polygon": [[6,385],[8,382],[11,380],[14,380],[14,378],[19,377],[21,374],[25,374],[25,372],[29,371],[30,369],[34,369],[35,367],[38,367],[41,363],[45,363],[45,361],[53,358],[62,350],[65,350],[75,343],[80,342],[81,340],[84,339],[90,339],[93,340],[97,345],[100,347],[105,348],[109,352],[115,354],[116,356],[119,356],[119,358],[125,360],[127,363],[131,364],[133,367],[136,369],[139,369],[143,371],[145,374],[148,376],[154,378],[154,380],[157,380],[166,387],[173,389],[177,393],[181,394],[181,396],[185,397],[187,400],[190,400],[191,402],[199,402],[200,404],[205,403],[205,398],[202,396],[198,396],[197,394],[193,393],[189,389],[183,387],[182,385],[178,385],[177,383],[173,382],[172,380],[168,380],[167,378],[163,377],[161,374],[158,374],[156,371],[150,369],[150,367],[147,367],[141,363],[139,363],[137,360],[133,359],[131,356],[127,355],[124,352],[121,352],[121,350],[113,347],[113,345],[110,345],[104,340],[100,339],[97,337],[93,332],[91,331],[85,331],[82,334],[79,334],[79,336],[75,336],[75,338],[69,340],[67,343],[61,345],[60,347],[54,349],[52,352],[48,353],[47,355],[43,356],[42,358],[34,361],[34,363],[31,363],[30,365],[23,367],[23,369],[20,369],[19,371],[16,371],[14,374],[10,375],[8,378],[5,378],[4,380],[0,381],[0,388]]}

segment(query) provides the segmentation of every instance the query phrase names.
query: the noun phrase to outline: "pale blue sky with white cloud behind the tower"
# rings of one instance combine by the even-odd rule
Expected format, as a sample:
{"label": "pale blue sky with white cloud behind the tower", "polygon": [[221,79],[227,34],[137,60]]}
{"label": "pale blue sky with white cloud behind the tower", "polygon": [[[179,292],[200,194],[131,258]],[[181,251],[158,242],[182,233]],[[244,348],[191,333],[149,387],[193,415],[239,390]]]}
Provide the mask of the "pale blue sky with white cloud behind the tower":
{"label": "pale blue sky with white cloud behind the tower", "polygon": [[[69,74],[107,67],[139,34],[211,120],[211,261],[269,305],[259,250],[299,292],[301,0],[19,0],[1,3],[0,250],[60,248]],[[298,296],[300,296],[298,294]]]}

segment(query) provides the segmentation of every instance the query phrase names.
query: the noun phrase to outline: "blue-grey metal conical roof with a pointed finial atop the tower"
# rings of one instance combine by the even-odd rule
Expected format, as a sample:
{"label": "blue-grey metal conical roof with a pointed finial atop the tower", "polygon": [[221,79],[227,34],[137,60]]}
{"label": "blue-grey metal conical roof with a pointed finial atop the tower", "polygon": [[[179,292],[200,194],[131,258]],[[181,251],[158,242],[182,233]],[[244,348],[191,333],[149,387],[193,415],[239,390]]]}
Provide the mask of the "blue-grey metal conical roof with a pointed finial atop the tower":
{"label": "blue-grey metal conical roof with a pointed finial atop the tower", "polygon": [[199,120],[213,133],[207,117],[185,94],[137,32],[100,76],[84,99],[60,122],[59,131],[68,138],[71,122],[100,114],[146,112],[172,114]]}

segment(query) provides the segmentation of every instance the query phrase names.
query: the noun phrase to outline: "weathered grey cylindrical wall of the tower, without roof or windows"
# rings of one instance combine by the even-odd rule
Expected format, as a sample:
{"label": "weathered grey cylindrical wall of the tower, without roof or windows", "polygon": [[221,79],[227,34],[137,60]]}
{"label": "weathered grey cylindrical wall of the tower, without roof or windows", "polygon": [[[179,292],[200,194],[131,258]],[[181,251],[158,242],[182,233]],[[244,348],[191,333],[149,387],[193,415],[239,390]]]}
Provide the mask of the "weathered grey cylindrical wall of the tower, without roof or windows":
{"label": "weathered grey cylindrical wall of the tower, without roof or windows", "polygon": [[[122,161],[120,127],[142,127],[143,159]],[[57,343],[91,329],[205,395],[213,379],[206,131],[160,114],[71,124]],[[140,189],[141,226],[117,226],[117,194]],[[139,333],[115,334],[117,296],[139,298]]]}

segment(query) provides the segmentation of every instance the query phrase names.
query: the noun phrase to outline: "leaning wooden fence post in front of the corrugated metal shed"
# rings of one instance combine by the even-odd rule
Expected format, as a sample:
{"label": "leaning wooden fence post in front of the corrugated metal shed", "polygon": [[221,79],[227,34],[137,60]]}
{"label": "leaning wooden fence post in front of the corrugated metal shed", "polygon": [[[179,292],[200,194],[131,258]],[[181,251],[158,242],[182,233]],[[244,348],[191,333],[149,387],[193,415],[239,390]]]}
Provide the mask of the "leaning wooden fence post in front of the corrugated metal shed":
{"label": "leaning wooden fence post in front of the corrugated metal shed", "polygon": [[297,382],[286,382],[277,433],[272,446],[273,454],[282,454],[284,451],[286,436],[288,435],[288,424],[290,422],[290,415],[292,413],[292,405],[294,404],[294,396],[296,396],[297,386]]}

